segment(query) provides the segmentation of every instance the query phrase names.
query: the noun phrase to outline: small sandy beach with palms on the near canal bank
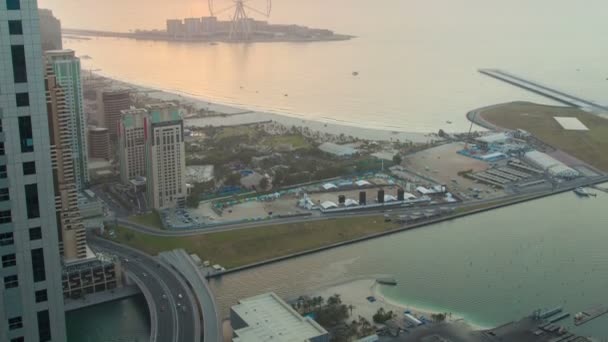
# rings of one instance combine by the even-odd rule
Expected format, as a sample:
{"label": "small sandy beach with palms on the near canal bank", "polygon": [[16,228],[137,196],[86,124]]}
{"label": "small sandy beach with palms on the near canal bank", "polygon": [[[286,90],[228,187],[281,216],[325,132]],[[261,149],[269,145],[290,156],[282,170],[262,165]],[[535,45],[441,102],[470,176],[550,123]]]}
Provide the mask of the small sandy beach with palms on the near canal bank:
{"label": "small sandy beach with palms on the near canal bank", "polygon": [[[322,296],[323,298],[328,298],[334,294],[340,294],[344,304],[353,305],[355,307],[353,309],[353,317],[362,316],[368,319],[370,322],[373,322],[372,316],[380,308],[384,308],[385,311],[392,310],[398,314],[398,317],[403,317],[403,313],[406,310],[410,311],[416,317],[423,316],[427,319],[430,319],[431,314],[434,313],[430,310],[404,305],[387,299],[380,291],[381,286],[386,285],[378,284],[376,279],[357,279],[321,289],[310,294],[310,296]],[[375,297],[376,301],[373,303],[368,301],[367,297],[369,296]],[[447,321],[463,322],[464,318],[457,315],[452,315],[447,318]],[[470,324],[469,322],[465,323],[474,330],[484,329],[484,327],[476,326]]]}

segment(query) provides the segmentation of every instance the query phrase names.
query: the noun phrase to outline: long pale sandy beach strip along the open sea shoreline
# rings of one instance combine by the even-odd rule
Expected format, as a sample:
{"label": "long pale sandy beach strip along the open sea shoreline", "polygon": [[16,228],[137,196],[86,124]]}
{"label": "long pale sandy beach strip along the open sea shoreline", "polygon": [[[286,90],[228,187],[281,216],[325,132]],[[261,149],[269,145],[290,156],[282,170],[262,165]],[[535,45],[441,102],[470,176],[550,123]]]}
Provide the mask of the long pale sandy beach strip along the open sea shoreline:
{"label": "long pale sandy beach strip along the open sea shoreline", "polygon": [[145,93],[147,97],[153,99],[158,99],[162,101],[179,101],[183,105],[190,106],[196,110],[204,109],[210,112],[216,112],[218,114],[225,114],[224,116],[218,115],[211,117],[186,118],[185,124],[187,126],[221,127],[274,121],[286,127],[308,127],[310,130],[317,131],[322,134],[344,134],[345,136],[353,136],[364,140],[428,143],[431,140],[440,139],[435,133],[401,132],[393,131],[390,129],[358,127],[346,123],[332,121],[331,119],[311,120],[302,116],[296,116],[291,114],[288,115],[253,111],[247,108],[240,108],[237,106],[229,106],[215,103],[197,96],[193,96],[191,94],[186,94],[175,90],[161,90],[120,81],[103,75],[97,76],[111,80],[115,86],[131,88],[139,93]]}

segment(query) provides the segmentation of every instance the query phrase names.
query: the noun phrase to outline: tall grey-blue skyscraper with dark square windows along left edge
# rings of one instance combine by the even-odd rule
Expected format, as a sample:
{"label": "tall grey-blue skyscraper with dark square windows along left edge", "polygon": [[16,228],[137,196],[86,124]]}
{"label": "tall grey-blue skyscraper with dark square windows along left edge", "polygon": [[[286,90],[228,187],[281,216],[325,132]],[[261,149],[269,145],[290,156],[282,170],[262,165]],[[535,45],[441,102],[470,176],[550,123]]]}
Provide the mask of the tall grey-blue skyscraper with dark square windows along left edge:
{"label": "tall grey-blue skyscraper with dark square windows along left edge", "polygon": [[[35,0],[0,1],[0,341],[65,341]],[[8,27],[6,30],[4,27]]]}

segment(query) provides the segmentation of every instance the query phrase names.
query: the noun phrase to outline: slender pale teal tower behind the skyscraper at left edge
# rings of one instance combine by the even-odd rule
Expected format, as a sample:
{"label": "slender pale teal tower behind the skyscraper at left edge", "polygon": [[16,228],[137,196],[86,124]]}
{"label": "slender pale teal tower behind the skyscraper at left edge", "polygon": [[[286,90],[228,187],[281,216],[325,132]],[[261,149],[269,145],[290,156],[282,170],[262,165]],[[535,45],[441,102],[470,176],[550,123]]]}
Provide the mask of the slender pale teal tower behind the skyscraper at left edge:
{"label": "slender pale teal tower behind the skyscraper at left edge", "polygon": [[74,159],[74,181],[78,191],[84,190],[89,183],[86,127],[84,115],[82,84],[80,81],[80,59],[73,50],[51,50],[45,53],[47,63],[53,67],[57,84],[63,89],[69,112],[70,149]]}

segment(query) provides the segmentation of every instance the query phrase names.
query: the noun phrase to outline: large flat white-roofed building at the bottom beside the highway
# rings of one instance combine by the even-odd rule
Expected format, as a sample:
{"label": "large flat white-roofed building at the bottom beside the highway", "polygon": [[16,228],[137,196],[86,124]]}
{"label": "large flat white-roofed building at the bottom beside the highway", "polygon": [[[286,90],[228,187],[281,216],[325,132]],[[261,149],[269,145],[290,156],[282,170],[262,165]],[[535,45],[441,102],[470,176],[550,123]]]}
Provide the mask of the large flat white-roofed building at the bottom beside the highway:
{"label": "large flat white-roofed building at the bottom beside the highway", "polygon": [[230,309],[234,342],[327,342],[329,333],[274,293],[243,299]]}

